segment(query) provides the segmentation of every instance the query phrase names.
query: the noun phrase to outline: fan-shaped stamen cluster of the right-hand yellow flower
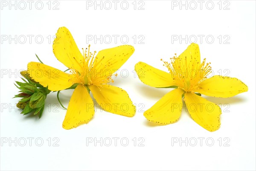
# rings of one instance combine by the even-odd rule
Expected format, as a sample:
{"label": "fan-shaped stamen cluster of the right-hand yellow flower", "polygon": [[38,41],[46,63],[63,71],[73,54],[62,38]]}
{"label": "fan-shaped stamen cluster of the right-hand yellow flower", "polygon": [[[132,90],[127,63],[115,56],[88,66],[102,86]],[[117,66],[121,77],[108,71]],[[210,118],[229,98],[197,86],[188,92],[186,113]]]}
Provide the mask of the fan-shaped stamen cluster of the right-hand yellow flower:
{"label": "fan-shaped stamen cluster of the right-hand yellow flower", "polygon": [[171,63],[163,61],[163,66],[167,67],[172,78],[174,78],[178,84],[178,87],[186,92],[194,91],[198,85],[207,78],[207,75],[211,73],[211,67],[205,63],[205,58],[200,64],[196,58],[184,57],[180,58],[176,56],[171,59]]}

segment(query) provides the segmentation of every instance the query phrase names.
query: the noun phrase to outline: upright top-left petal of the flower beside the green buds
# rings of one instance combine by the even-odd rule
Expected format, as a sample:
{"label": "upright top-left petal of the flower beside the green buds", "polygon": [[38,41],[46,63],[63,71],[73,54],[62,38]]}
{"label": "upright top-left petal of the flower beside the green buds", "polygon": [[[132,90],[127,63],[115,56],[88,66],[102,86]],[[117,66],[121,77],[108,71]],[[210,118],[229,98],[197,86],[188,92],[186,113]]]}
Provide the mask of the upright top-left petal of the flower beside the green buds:
{"label": "upright top-left petal of the flower beside the green buds", "polygon": [[80,61],[83,56],[76,46],[76,42],[66,27],[60,27],[53,41],[53,53],[55,57],[68,68],[80,69]]}

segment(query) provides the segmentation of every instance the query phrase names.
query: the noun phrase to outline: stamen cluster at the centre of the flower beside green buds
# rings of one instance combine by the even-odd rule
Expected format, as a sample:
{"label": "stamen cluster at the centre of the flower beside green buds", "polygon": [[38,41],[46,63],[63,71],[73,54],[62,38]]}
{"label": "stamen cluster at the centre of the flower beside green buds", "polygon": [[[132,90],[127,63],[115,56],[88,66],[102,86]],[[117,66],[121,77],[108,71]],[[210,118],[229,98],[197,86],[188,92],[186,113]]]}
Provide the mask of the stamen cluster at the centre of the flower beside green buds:
{"label": "stamen cluster at the centre of the flower beside green buds", "polygon": [[90,45],[88,49],[83,49],[83,59],[76,62],[79,64],[80,68],[70,68],[70,73],[72,73],[73,78],[70,81],[73,84],[83,84],[83,85],[96,85],[101,87],[101,84],[108,84],[113,82],[111,75],[107,75],[108,72],[104,72],[104,70],[99,69],[96,70],[96,67],[101,64],[101,61],[104,59],[98,59],[95,56],[96,51],[93,53],[90,52]]}

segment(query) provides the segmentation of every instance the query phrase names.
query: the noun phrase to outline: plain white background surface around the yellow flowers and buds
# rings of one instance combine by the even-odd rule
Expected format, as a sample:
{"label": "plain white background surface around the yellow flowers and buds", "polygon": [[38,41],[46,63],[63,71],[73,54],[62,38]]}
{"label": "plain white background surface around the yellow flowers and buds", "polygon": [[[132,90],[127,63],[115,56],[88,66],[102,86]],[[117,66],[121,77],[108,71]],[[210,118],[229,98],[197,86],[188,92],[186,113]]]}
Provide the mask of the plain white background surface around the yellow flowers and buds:
{"label": "plain white background surface around the yellow flowers and buds", "polygon": [[[23,2],[26,4],[25,9]],[[186,6],[180,6],[180,1],[127,1],[129,6],[126,10],[126,3],[122,1],[117,3],[116,9],[114,2],[102,1],[102,10],[100,6],[94,9],[94,1],[33,1],[31,9],[29,2],[23,2],[16,1],[15,9],[15,6],[9,6],[9,1],[1,1],[1,170],[256,169],[255,1],[204,1],[201,7],[198,1],[183,1],[183,4],[187,4],[187,9]],[[112,8],[108,10],[109,2]],[[12,3],[15,4],[15,1]],[[41,3],[44,6],[39,10]],[[91,3],[93,6],[87,6]],[[100,1],[97,3],[100,4]],[[121,3],[123,6],[120,6]],[[137,4],[135,10],[134,4]],[[193,10],[195,5],[197,8]],[[140,6],[142,10],[138,10]],[[39,120],[37,116],[21,115],[14,107],[18,100],[12,99],[18,91],[14,81],[21,80],[18,71],[26,69],[28,62],[37,61],[35,53],[44,64],[60,70],[66,69],[52,53],[52,37],[61,26],[70,30],[79,49],[90,43],[92,50],[99,51],[122,45],[126,41],[120,40],[123,35],[129,38],[127,44],[133,45],[135,52],[120,68],[120,71],[129,71],[128,78],[124,78],[125,72],[119,73],[113,85],[122,87],[129,93],[137,106],[134,117],[107,113],[97,107],[88,124],[64,130],[62,122],[66,110],[59,107],[55,93],[47,96],[44,114]],[[33,36],[31,42],[28,35]],[[90,35],[96,35],[97,38],[101,35],[102,38],[111,36],[112,41],[109,43],[109,39],[105,39],[102,43],[95,43],[94,40],[87,39]],[[119,36],[116,42],[113,35]],[[134,35],[137,37],[135,42]],[[139,35],[142,37],[138,38]],[[175,41],[173,38],[176,35],[181,35],[185,40]],[[201,35],[202,41],[198,35]],[[35,39],[36,36],[38,39]],[[249,90],[227,99],[205,97],[220,104],[222,108],[221,127],[215,132],[209,132],[196,124],[185,108],[178,122],[155,126],[145,119],[143,110],[150,108],[170,89],[144,85],[137,77],[134,78],[134,65],[144,61],[167,71],[160,58],[168,60],[175,53],[179,55],[189,45],[189,38],[190,41],[195,41],[195,37],[200,46],[201,58],[207,58],[207,62],[212,63],[215,75],[221,70],[222,75],[239,78],[247,84]],[[9,38],[14,40],[10,41]],[[41,38],[44,40],[41,41]],[[142,38],[145,39],[139,42]],[[14,74],[10,74],[11,72]],[[72,90],[61,92],[61,100],[65,106],[71,94]],[[116,146],[113,139],[115,137],[119,138]],[[135,146],[134,137],[137,140]],[[9,144],[9,140],[15,141],[15,138],[17,146],[15,142]],[[29,138],[33,138],[31,146]],[[102,138],[102,146],[99,142],[96,145],[88,144],[87,140],[94,138]],[[127,146],[121,144],[122,138],[129,140]],[[186,138],[187,145],[185,142],[181,145],[179,142],[174,143],[174,140],[186,141]],[[207,138],[209,141],[206,141]],[[8,142],[3,143],[6,139]],[[24,139],[26,145],[21,146]],[[41,139],[44,142],[38,146]],[[107,146],[109,139],[112,139],[112,144]],[[192,146],[195,139],[197,144]],[[125,144],[125,140],[123,143]]]}

